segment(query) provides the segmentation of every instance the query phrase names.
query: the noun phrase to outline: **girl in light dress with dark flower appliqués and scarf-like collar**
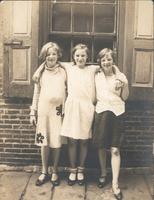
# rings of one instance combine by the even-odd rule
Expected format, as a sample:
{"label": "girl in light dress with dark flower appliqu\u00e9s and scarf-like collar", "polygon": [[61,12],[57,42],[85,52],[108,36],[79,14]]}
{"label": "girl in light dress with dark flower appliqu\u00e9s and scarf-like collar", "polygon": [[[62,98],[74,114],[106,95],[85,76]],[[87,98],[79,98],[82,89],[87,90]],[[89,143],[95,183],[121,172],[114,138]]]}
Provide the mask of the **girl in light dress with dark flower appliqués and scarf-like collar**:
{"label": "girl in light dress with dark flower appliqu\u00e9s and scarf-like collar", "polygon": [[48,158],[49,150],[53,151],[53,167],[51,182],[59,185],[57,166],[61,148],[61,125],[63,105],[66,96],[66,74],[58,60],[61,50],[56,43],[45,44],[40,52],[43,60],[43,72],[34,85],[33,102],[30,112],[30,122],[36,126],[35,143],[41,146],[42,173],[36,181],[40,186],[49,180]]}

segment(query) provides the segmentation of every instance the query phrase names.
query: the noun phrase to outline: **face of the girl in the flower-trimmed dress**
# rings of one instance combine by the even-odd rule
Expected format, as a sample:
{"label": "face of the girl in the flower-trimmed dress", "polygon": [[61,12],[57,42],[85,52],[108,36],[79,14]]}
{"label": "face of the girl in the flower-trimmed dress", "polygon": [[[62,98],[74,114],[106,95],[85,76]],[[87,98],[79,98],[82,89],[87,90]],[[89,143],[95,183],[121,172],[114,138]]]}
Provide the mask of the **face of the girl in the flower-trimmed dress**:
{"label": "face of the girl in the flower-trimmed dress", "polygon": [[49,48],[46,56],[47,66],[51,68],[54,67],[57,63],[57,60],[58,60],[57,51],[53,48]]}

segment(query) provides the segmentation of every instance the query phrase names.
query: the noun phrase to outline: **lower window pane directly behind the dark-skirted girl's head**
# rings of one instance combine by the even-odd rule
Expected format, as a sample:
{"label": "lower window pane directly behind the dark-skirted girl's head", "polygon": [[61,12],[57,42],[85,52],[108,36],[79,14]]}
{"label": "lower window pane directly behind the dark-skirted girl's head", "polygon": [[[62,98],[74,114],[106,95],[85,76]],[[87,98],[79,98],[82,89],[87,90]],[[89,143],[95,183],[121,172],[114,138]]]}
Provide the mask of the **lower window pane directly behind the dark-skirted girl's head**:
{"label": "lower window pane directly behind the dark-skirted girl's head", "polygon": [[113,49],[113,40],[112,39],[94,39],[94,62],[97,62],[97,55],[99,51],[103,48]]}

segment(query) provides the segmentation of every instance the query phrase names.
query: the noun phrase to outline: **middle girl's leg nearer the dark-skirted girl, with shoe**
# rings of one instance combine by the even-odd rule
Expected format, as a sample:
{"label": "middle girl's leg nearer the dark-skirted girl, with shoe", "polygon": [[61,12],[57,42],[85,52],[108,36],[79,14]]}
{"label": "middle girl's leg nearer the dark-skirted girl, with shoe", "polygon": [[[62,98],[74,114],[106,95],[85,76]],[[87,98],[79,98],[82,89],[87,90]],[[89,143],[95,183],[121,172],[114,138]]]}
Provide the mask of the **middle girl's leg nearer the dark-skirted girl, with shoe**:
{"label": "middle girl's leg nearer the dark-skirted girl, with shoe", "polygon": [[87,150],[88,150],[88,140],[80,140],[80,156],[79,156],[79,167],[77,173],[77,180],[79,185],[83,185],[85,183],[84,166],[87,157]]}

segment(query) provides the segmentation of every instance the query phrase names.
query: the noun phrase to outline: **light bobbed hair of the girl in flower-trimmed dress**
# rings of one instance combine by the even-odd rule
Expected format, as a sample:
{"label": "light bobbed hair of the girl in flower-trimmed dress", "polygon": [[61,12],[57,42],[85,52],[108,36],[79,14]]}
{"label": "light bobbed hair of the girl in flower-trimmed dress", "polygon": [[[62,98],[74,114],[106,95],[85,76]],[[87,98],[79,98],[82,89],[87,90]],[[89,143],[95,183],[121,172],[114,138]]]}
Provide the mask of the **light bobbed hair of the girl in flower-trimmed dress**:
{"label": "light bobbed hair of the girl in flower-trimmed dress", "polygon": [[46,43],[45,45],[43,45],[41,51],[40,51],[40,55],[39,55],[39,59],[44,62],[46,57],[47,57],[47,54],[48,54],[48,50],[52,48],[54,49],[56,52],[57,52],[57,55],[58,55],[58,59],[60,59],[62,57],[62,50],[61,48],[58,46],[57,43],[55,42],[48,42]]}

